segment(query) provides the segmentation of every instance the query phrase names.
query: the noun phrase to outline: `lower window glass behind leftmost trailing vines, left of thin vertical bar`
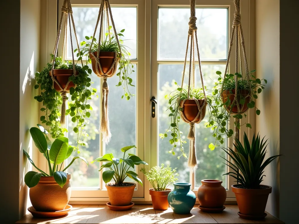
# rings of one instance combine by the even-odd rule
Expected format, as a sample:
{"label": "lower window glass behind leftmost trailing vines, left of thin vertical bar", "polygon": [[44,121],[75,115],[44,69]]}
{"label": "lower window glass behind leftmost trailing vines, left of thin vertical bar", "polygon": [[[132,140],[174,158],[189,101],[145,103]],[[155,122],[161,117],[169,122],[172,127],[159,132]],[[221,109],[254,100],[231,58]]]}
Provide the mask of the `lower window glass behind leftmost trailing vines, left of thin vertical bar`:
{"label": "lower window glass behind leftmost trailing vines, left of thin vertical bar", "polygon": [[[91,68],[90,64],[89,67]],[[91,81],[94,82],[92,84],[92,88],[96,88],[96,94],[100,96],[101,79],[94,73],[92,73],[89,77],[91,78]],[[71,100],[71,97],[69,97],[69,100]],[[90,111],[89,124],[84,128],[84,131],[86,131],[89,136],[84,136],[82,139],[84,142],[87,142],[87,145],[79,146],[81,151],[80,154],[78,155],[77,152],[73,152],[73,154],[68,158],[67,161],[67,163],[69,163],[71,162],[73,157],[82,156],[87,160],[89,164],[87,166],[86,163],[81,159],[76,159],[70,166],[70,168],[68,168],[68,172],[72,175],[72,188],[99,188],[100,186],[98,171],[100,164],[98,162],[91,163],[91,161],[93,161],[100,155],[100,97],[96,97],[96,95],[93,95],[92,100],[89,100],[89,104],[91,105],[93,110]],[[69,145],[77,145],[77,134],[73,131],[75,125],[71,121],[70,116],[67,116],[67,127],[69,130],[69,132],[67,133],[67,136],[69,138]]]}

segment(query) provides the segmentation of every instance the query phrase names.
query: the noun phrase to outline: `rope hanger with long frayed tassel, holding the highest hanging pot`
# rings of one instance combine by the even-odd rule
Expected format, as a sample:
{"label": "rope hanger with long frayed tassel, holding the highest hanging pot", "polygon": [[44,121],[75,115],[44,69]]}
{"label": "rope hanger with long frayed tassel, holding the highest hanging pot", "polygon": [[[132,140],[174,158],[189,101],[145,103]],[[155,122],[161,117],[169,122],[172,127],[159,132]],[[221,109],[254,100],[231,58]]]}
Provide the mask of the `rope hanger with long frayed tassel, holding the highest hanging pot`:
{"label": "rope hanger with long frayed tassel, holding the highest hanging pot", "polygon": [[[101,66],[101,63],[100,63],[100,59],[99,59],[100,40],[101,40],[101,37],[102,37],[103,17],[104,17],[104,11],[105,10],[106,10],[106,16],[107,16],[109,39],[111,39],[110,28],[109,28],[109,15],[110,15],[111,24],[112,24],[112,27],[113,27],[113,30],[114,30],[114,33],[115,33],[115,39],[116,39],[116,42],[117,42],[118,48],[119,48],[119,54],[117,52],[115,52],[114,61],[111,65],[110,69],[106,73],[103,72],[102,66]],[[91,52],[91,47],[92,47],[92,44],[94,42],[94,36],[97,32],[97,27],[99,25],[99,22],[100,22],[99,46],[98,46],[98,49],[97,49],[97,56],[95,56],[94,52]],[[90,45],[89,52],[88,52],[88,55],[90,55],[90,54],[95,59],[96,75],[100,78],[103,78],[103,80],[104,80],[103,81],[103,86],[102,86],[103,99],[102,99],[102,117],[101,117],[100,131],[103,135],[103,142],[108,144],[108,142],[111,139],[111,133],[110,133],[109,116],[108,116],[109,87],[108,87],[108,84],[107,84],[107,78],[111,78],[111,77],[114,76],[114,74],[116,73],[116,70],[117,70],[118,62],[120,61],[120,58],[122,56],[120,43],[119,43],[118,35],[117,35],[116,29],[115,29],[115,24],[114,24],[114,20],[113,20],[113,17],[112,17],[112,11],[111,11],[111,6],[110,6],[109,0],[102,0],[101,1],[99,14],[98,14],[97,22],[96,22],[95,29],[94,29],[93,38],[91,40],[91,45]]]}

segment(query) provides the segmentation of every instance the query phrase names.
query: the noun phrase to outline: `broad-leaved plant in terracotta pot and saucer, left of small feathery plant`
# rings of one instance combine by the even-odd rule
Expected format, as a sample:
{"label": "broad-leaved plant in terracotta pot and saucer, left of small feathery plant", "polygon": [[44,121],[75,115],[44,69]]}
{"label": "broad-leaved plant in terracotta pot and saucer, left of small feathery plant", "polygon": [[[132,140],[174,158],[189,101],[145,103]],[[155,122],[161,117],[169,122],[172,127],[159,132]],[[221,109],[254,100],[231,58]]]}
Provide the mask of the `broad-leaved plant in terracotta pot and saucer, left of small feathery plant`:
{"label": "broad-leaved plant in terracotta pot and saucer, left of small feathery plant", "polygon": [[[136,148],[136,146],[130,145],[120,149],[123,152],[123,158],[115,158],[112,153],[109,153],[93,161],[107,162],[101,165],[99,171],[104,168],[109,169],[103,172],[102,177],[103,181],[106,183],[110,200],[107,205],[112,210],[128,210],[134,205],[131,200],[136,184],[125,182],[126,177],[135,180],[142,186],[142,181],[138,178],[138,174],[129,169],[134,169],[135,165],[148,164],[134,154],[128,153],[128,156],[126,157],[126,151],[131,148]],[[112,179],[114,180],[114,183],[109,183]]]}

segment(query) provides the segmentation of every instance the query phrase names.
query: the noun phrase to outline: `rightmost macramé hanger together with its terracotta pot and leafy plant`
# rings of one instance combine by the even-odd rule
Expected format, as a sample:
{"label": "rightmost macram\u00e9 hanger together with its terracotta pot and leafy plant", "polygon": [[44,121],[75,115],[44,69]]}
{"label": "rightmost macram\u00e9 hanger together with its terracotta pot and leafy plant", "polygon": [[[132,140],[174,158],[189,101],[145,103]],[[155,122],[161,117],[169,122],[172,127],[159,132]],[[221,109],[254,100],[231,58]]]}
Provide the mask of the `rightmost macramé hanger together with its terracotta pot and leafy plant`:
{"label": "rightmost macram\u00e9 hanger together with its terracotta pot and leafy plant", "polygon": [[[217,118],[228,120],[230,116],[234,117],[234,144],[235,139],[239,139],[239,129],[240,129],[240,119],[243,116],[247,116],[245,113],[249,110],[249,108],[255,107],[255,102],[253,98],[257,99],[256,93],[260,93],[262,89],[264,89],[264,85],[261,84],[260,79],[255,79],[255,77],[251,74],[255,72],[255,70],[248,70],[248,62],[246,57],[245,50],[245,41],[244,35],[241,25],[241,15],[240,15],[240,0],[234,0],[235,4],[235,13],[234,13],[234,21],[233,21],[233,30],[231,33],[231,39],[229,43],[228,57],[227,63],[225,67],[223,81],[220,81],[221,90],[218,94],[219,102],[222,102],[224,110],[220,113],[216,113]],[[228,74],[228,65],[230,62],[231,49],[234,42],[234,36],[236,36],[236,73]],[[243,57],[242,57],[243,55]],[[245,65],[245,75],[243,75],[242,68],[242,60]],[[238,72],[238,63],[240,64],[240,73]],[[221,72],[216,72],[218,75],[221,75]],[[264,80],[267,83],[267,80]],[[256,91],[255,88],[258,88]],[[257,115],[260,114],[260,111],[256,111]],[[243,115],[243,116],[242,116]],[[217,120],[216,118],[216,120]],[[226,126],[221,126],[221,122],[217,122],[222,130],[221,134],[227,134],[227,136],[232,136],[232,130],[227,130]],[[249,123],[246,123],[246,127],[251,128]],[[235,149],[235,147],[234,147]]]}

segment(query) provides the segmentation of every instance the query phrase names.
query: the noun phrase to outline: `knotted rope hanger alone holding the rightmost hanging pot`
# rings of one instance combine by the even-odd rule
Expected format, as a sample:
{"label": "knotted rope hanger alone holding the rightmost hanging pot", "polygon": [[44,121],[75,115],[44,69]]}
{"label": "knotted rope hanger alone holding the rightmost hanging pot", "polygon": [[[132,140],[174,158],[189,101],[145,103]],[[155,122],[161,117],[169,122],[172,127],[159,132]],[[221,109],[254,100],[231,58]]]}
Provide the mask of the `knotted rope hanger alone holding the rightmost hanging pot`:
{"label": "knotted rope hanger alone holding the rightmost hanging pot", "polygon": [[[253,90],[251,88],[251,83],[250,83],[250,78],[249,78],[249,70],[248,70],[248,63],[247,63],[247,57],[246,57],[246,50],[245,50],[245,41],[244,41],[244,35],[243,35],[243,30],[242,30],[242,24],[241,24],[241,14],[240,14],[240,0],[234,0],[234,5],[235,5],[235,13],[234,13],[234,21],[233,21],[233,30],[231,33],[231,40],[229,43],[229,50],[228,50],[228,56],[227,56],[227,62],[226,62],[226,66],[225,66],[225,73],[224,73],[224,77],[223,80],[225,79],[225,75],[227,74],[228,71],[228,65],[230,62],[230,57],[231,57],[231,49],[233,46],[233,41],[234,41],[234,35],[236,34],[236,72],[238,72],[238,57],[240,58],[240,70],[241,70],[241,75],[243,76],[243,71],[242,71],[242,57],[241,57],[241,48],[242,48],[242,52],[243,52],[243,59],[244,59],[244,65],[245,65],[245,80],[248,82],[248,86],[249,86],[249,95],[245,96],[245,97],[249,97],[249,102],[251,102],[252,100],[252,93]],[[239,50],[239,54],[238,54],[238,50]],[[243,79],[243,77],[241,77],[241,80]],[[239,106],[239,96],[238,96],[238,76],[235,76],[235,81],[236,81],[236,86],[235,86],[235,94],[234,94],[234,100],[231,103],[231,108],[226,107],[228,113],[231,114],[239,114],[239,113],[245,113],[249,110],[249,108],[247,108],[245,111],[243,111],[243,107],[244,105]],[[221,87],[221,92],[220,94],[223,93],[223,88],[224,88],[224,81],[222,83],[222,87]],[[222,96],[222,102],[223,102],[223,96]],[[237,105],[237,109],[238,112],[234,113],[232,112],[232,105]],[[235,123],[235,131],[234,131],[234,141],[233,143],[236,144],[236,139],[239,139],[239,128],[237,127],[237,124],[239,123],[239,118],[235,118],[234,119],[234,123]],[[234,147],[234,151],[236,151],[236,148]]]}

